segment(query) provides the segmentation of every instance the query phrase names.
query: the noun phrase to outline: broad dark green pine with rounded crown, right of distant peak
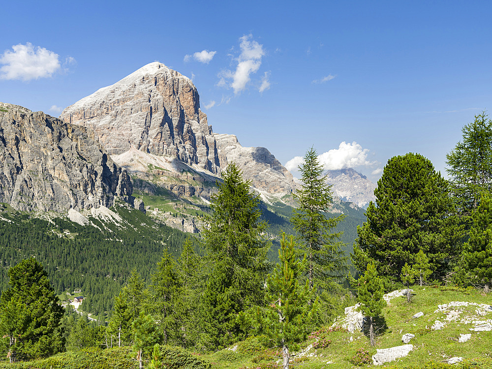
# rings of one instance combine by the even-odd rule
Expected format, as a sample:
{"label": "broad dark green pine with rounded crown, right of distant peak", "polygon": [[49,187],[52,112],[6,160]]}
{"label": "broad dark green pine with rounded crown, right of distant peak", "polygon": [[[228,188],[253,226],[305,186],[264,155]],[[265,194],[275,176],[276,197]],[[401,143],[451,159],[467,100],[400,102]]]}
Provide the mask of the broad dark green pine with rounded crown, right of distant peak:
{"label": "broad dark green pine with rounded crown, right of distant peak", "polygon": [[367,221],[357,227],[352,259],[362,273],[369,259],[388,283],[398,282],[401,268],[423,250],[435,277],[458,254],[462,226],[454,215],[448,184],[432,163],[419,154],[388,160],[369,203]]}

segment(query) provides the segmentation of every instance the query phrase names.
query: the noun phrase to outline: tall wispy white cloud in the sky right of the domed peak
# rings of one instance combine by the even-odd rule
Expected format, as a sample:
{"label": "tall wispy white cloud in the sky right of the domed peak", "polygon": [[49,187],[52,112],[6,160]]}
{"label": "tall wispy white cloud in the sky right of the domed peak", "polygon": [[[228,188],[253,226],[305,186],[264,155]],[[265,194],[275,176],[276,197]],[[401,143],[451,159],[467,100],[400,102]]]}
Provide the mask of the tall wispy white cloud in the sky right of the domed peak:
{"label": "tall wispy white cloud in the sky right of the domed peak", "polygon": [[[237,58],[234,58],[238,63],[236,70],[234,72],[230,70],[223,70],[220,72],[218,75],[220,80],[217,83],[217,86],[232,87],[235,94],[238,94],[246,88],[246,85],[251,80],[251,74],[258,71],[261,66],[261,59],[265,55],[263,45],[253,40],[251,34],[244,35],[240,38],[240,41],[239,47],[241,49],[241,54]],[[231,79],[232,82],[230,81]],[[260,92],[263,92],[270,87],[268,80],[266,80],[265,84],[262,82],[262,87],[263,90]]]}

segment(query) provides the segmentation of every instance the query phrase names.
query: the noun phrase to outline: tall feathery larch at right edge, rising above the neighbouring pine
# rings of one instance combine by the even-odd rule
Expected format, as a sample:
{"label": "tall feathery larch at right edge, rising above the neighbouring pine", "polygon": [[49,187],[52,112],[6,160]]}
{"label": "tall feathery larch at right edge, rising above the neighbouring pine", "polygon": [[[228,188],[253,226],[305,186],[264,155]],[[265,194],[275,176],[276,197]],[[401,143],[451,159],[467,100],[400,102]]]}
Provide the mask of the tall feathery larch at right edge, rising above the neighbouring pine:
{"label": "tall feathery larch at right edge, rising above the neighbouring pine", "polygon": [[492,120],[482,112],[462,132],[462,141],[446,155],[446,170],[458,209],[470,215],[482,194],[492,193]]}

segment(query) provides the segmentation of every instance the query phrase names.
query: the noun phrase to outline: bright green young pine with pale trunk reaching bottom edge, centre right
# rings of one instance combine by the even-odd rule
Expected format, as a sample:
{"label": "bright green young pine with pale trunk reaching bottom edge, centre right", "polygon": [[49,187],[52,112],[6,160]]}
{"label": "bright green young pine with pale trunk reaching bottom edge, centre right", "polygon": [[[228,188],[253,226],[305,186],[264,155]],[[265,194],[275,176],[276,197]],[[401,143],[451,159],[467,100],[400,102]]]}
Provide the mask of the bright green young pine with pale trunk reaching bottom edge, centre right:
{"label": "bright green young pine with pale trunk reaching bottom edge, centre right", "polygon": [[299,259],[293,237],[287,241],[283,235],[278,257],[280,263],[267,278],[266,313],[263,315],[258,309],[257,323],[259,331],[281,348],[283,369],[288,369],[292,351],[299,348],[309,333],[307,327],[318,300],[309,304],[313,290],[307,280],[304,285],[299,283],[307,262],[306,257]]}

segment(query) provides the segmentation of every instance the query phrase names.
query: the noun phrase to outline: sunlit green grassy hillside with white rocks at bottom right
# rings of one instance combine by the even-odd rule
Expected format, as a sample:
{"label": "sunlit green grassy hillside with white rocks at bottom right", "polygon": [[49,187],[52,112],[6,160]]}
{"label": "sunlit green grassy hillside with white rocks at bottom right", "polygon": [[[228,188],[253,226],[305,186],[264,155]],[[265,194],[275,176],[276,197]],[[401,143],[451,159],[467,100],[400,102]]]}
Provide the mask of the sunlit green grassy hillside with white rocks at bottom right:
{"label": "sunlit green grassy hillside with white rocks at bottom right", "polygon": [[[447,313],[438,310],[438,305],[448,304],[452,301],[472,302],[477,304],[492,303],[492,296],[483,295],[476,290],[462,290],[446,287],[413,287],[415,292],[410,304],[405,297],[397,297],[390,301],[384,308],[384,317],[379,322],[381,328],[378,331],[376,346],[369,345],[369,338],[360,331],[354,333],[346,329],[320,330],[313,338],[304,342],[303,347],[309,348],[307,353],[295,358],[295,368],[322,369],[336,368],[349,369],[366,367],[367,364],[357,365],[355,358],[357,352],[363,352],[359,356],[367,356],[376,353],[376,349],[389,348],[403,345],[403,334],[415,335],[410,343],[414,345],[413,351],[405,358],[384,367],[389,368],[492,368],[492,332],[472,332],[472,323],[463,323],[462,320],[480,320],[492,323],[492,307],[485,315],[479,315],[476,306],[455,307],[456,312]],[[422,311],[424,316],[413,319],[412,316]],[[458,313],[460,312],[460,313]],[[482,312],[483,313],[483,312]],[[449,319],[454,319],[448,321]],[[448,319],[448,320],[447,320]],[[444,322],[446,326],[442,330],[434,331],[431,326],[435,320]],[[342,317],[338,324],[344,321]],[[337,324],[337,325],[338,325]],[[471,339],[460,343],[461,334],[471,333]],[[313,348],[313,345],[318,348]],[[326,347],[321,348],[325,342]],[[276,360],[272,356],[278,355],[273,349],[260,348],[255,340],[240,342],[236,351],[224,349],[205,357],[212,362],[212,368],[237,369],[237,368],[275,368]],[[462,364],[453,366],[445,364],[447,358],[459,356],[465,359]],[[372,360],[370,360],[372,365]]]}

